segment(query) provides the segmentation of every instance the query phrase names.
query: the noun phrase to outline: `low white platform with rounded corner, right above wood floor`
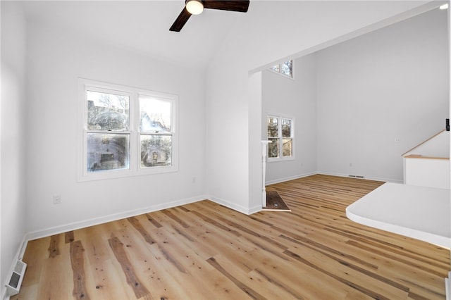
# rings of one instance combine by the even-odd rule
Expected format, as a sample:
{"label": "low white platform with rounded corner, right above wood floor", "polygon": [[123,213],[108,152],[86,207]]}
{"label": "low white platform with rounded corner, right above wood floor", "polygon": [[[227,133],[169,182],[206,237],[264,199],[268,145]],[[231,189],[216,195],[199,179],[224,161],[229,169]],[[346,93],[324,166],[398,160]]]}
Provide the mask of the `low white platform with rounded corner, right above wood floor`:
{"label": "low white platform with rounded corner, right above wood floor", "polygon": [[450,249],[450,189],[387,182],[346,208],[354,222]]}

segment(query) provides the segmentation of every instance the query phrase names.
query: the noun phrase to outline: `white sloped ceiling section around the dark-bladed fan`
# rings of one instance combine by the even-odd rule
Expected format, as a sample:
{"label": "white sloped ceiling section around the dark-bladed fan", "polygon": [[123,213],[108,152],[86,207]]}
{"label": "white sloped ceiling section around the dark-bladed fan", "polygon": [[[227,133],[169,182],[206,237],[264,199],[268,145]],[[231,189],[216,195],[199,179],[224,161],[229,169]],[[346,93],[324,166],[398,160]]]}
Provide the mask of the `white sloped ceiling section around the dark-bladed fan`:
{"label": "white sloped ceiling section around the dark-bladed fan", "polygon": [[185,1],[29,1],[32,22],[75,30],[83,35],[160,57],[188,67],[203,68],[230,27],[245,13],[204,10],[192,15],[181,32],[170,32]]}

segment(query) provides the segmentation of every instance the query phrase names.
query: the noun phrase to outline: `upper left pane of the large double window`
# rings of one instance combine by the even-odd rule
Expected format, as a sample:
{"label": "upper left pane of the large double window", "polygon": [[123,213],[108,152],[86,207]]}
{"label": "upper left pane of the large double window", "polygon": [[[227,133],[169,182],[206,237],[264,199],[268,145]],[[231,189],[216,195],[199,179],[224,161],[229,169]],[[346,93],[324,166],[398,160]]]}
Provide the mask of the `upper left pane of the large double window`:
{"label": "upper left pane of the large double window", "polygon": [[87,91],[87,129],[127,131],[130,97]]}

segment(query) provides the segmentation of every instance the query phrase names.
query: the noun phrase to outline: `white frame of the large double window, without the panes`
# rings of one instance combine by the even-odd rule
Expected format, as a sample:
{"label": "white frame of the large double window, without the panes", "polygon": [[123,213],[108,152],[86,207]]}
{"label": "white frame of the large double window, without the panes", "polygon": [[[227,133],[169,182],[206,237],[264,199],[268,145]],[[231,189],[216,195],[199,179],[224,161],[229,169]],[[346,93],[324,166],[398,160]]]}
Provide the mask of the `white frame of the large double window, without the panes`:
{"label": "white frame of the large double window, without the panes", "polygon": [[[87,134],[104,132],[87,129],[87,90],[93,92],[114,92],[130,95],[128,131],[111,131],[113,134],[130,135],[130,168],[88,172],[87,170]],[[141,166],[140,141],[140,95],[171,102],[171,165]],[[166,133],[168,134],[168,133]],[[155,92],[148,89],[127,87],[109,82],[78,78],[78,181],[106,180],[120,177],[152,175],[178,171],[178,96],[175,94]]]}

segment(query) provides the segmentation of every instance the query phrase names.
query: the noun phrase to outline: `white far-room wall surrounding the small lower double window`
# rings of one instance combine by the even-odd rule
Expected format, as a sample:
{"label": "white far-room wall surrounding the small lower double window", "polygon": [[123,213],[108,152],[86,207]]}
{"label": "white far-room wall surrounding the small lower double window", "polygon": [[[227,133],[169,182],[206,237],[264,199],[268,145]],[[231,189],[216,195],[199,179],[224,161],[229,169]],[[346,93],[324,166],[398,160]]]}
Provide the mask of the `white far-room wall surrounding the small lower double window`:
{"label": "white far-room wall surrounding the small lower double window", "polygon": [[266,164],[266,183],[281,182],[316,173],[316,56],[295,59],[291,79],[263,71],[261,137],[266,139],[266,115],[294,118],[294,160]]}

